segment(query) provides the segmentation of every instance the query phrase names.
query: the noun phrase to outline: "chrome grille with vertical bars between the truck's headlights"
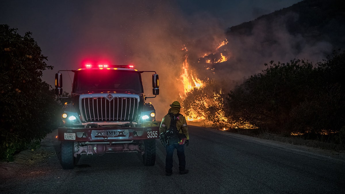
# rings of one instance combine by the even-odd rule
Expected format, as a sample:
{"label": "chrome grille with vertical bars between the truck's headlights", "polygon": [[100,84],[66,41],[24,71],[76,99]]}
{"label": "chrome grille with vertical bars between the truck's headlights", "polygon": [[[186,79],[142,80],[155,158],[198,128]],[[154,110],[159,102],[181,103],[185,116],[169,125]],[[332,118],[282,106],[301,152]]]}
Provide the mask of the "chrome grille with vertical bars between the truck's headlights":
{"label": "chrome grille with vertical bars between the truck's headlights", "polygon": [[81,99],[81,114],[86,122],[129,122],[135,120],[138,99],[115,97],[110,101],[105,97]]}

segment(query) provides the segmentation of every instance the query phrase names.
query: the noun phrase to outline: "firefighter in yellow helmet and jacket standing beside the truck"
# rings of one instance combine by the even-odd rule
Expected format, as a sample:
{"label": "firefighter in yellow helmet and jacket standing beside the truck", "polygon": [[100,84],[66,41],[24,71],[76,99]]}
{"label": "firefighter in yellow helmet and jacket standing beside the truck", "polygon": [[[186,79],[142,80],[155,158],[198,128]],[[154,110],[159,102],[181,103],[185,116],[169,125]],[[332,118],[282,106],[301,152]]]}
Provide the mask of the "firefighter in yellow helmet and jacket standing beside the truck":
{"label": "firefighter in yellow helmet and jacket standing beside the truck", "polygon": [[187,121],[183,115],[179,114],[181,105],[178,101],[174,101],[170,105],[170,107],[171,108],[169,109],[168,114],[165,115],[162,119],[162,122],[159,127],[159,133],[165,133],[171,126],[170,124],[171,124],[172,119],[170,115],[172,113],[176,116],[176,128],[177,130],[179,130],[179,134],[186,135],[186,138],[182,139],[179,143],[165,146],[165,149],[167,152],[167,156],[165,158],[165,172],[167,176],[170,176],[172,174],[172,156],[174,155],[174,150],[177,149],[180,174],[187,174],[189,170],[186,169],[185,145],[184,145],[184,144],[186,144],[186,146],[189,145]]}

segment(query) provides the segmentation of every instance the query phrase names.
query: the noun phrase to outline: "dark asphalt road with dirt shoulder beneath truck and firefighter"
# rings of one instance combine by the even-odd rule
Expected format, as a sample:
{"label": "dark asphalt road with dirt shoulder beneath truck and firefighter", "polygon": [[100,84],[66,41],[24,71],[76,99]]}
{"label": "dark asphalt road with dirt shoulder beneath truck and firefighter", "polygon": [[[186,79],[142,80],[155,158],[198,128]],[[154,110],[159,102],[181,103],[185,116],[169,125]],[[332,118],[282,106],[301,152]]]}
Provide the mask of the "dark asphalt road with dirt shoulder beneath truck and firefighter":
{"label": "dark asphalt road with dirt shoulder beneath truck and firefighter", "polygon": [[[135,153],[82,156],[59,164],[56,131],[37,151],[0,164],[0,193],[345,193],[345,160],[309,148],[189,126],[189,174],[165,176],[165,149],[157,140],[155,166]],[[301,150],[302,149],[302,150]]]}

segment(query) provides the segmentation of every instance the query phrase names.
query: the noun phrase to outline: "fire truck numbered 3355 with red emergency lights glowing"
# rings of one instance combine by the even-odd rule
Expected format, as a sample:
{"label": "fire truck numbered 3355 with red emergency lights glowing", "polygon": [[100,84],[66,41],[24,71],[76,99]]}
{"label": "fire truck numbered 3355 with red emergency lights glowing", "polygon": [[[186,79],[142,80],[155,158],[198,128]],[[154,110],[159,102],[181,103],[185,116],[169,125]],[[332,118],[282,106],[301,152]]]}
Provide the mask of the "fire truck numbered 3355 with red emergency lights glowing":
{"label": "fire truck numbered 3355 with red emergency lights glowing", "polygon": [[[154,165],[159,126],[155,108],[146,99],[159,94],[156,71],[107,64],[59,70],[55,75],[59,98],[64,98],[62,71],[74,72],[70,102],[63,105],[61,112],[64,125],[58,128],[62,168],[74,168],[81,155],[119,152],[139,153],[144,165]],[[151,97],[144,94],[144,72],[154,72]]]}

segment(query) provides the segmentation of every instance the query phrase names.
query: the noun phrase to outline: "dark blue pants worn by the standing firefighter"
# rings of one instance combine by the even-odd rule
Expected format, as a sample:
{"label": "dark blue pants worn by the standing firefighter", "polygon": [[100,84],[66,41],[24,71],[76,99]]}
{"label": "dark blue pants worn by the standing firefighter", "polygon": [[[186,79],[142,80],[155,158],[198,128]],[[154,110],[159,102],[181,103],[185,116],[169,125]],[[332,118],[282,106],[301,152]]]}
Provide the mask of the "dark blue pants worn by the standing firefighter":
{"label": "dark blue pants worn by the standing firefighter", "polygon": [[177,149],[178,165],[180,171],[184,171],[186,168],[186,157],[185,157],[185,145],[172,144],[166,146],[167,157],[165,158],[165,172],[172,173],[172,156],[174,155],[174,150]]}

